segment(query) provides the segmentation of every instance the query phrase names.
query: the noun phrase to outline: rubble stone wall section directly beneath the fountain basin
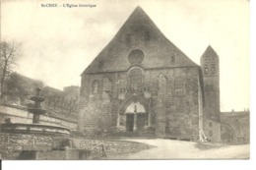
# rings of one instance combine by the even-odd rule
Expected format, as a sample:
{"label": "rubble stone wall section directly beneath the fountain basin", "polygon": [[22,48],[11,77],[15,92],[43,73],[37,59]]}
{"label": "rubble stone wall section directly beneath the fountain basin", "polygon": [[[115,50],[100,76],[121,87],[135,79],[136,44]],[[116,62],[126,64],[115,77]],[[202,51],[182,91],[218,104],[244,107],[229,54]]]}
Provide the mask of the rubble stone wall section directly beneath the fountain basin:
{"label": "rubble stone wall section directly beneath the fountain basin", "polygon": [[52,136],[0,133],[0,159],[19,159],[26,147],[46,149],[52,146],[52,141]]}

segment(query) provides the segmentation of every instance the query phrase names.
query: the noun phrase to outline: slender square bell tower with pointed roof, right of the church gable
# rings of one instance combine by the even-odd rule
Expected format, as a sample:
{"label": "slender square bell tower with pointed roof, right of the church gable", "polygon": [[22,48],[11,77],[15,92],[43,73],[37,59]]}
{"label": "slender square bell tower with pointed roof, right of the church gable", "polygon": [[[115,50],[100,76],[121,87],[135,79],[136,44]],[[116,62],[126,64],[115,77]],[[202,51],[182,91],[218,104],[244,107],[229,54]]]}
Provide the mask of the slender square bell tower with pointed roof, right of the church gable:
{"label": "slender square bell tower with pointed roof, right of the church gable", "polygon": [[209,45],[201,57],[207,118],[220,122],[220,63],[219,56]]}

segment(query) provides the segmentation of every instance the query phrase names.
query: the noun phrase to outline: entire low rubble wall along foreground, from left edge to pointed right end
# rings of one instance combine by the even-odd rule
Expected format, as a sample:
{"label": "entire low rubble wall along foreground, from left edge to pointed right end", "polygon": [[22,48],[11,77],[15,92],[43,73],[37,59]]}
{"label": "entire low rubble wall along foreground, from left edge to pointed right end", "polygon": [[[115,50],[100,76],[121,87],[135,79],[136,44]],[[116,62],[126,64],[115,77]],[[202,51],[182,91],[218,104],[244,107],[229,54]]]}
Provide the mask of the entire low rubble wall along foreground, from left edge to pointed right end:
{"label": "entire low rubble wall along foreground, from left edge to pointed right end", "polygon": [[[23,150],[41,150],[48,151],[38,154],[37,159],[50,157],[53,159],[62,159],[59,157],[59,151],[52,150],[54,142],[66,139],[64,136],[43,136],[43,135],[25,135],[25,134],[8,134],[0,133],[0,159],[13,160],[21,159],[20,153]],[[140,142],[124,142],[124,141],[97,141],[97,140],[78,140],[71,139],[72,147],[80,150],[92,150],[89,159],[103,158],[103,153],[107,156],[133,153],[144,149],[152,148],[152,146]],[[102,147],[103,145],[103,147]],[[102,150],[104,149],[104,150]],[[55,154],[56,153],[56,154]],[[62,154],[62,153],[61,153]],[[78,155],[74,156],[72,148],[67,152],[69,154],[65,159],[78,159]],[[66,155],[66,154],[65,154]]]}

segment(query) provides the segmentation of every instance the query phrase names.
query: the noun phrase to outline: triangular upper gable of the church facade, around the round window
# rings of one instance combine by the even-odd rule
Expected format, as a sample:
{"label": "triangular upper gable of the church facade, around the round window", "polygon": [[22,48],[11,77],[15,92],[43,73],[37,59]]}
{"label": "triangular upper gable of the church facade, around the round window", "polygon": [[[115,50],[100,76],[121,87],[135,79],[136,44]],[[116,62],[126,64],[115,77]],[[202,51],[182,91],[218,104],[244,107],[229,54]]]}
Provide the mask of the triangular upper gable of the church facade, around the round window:
{"label": "triangular upper gable of the church facade, around the round window", "polygon": [[[84,73],[126,71],[131,66],[128,56],[136,49],[144,54],[141,66],[145,69],[198,66],[138,6]],[[171,62],[172,56],[175,62]]]}

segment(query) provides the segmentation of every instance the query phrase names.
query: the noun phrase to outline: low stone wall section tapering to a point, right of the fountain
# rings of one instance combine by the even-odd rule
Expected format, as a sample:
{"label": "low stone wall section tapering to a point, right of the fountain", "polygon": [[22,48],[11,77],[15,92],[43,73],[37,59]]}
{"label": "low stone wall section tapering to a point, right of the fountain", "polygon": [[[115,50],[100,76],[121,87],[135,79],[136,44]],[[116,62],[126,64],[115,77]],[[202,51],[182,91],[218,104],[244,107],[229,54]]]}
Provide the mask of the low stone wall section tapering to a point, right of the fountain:
{"label": "low stone wall section tapering to a point, right of the fountain", "polygon": [[140,142],[124,142],[124,141],[97,141],[97,140],[77,140],[73,139],[72,144],[76,148],[84,148],[92,150],[91,157],[102,157],[102,145],[106,155],[120,155],[126,153],[134,153],[144,149],[150,149],[153,146]]}

